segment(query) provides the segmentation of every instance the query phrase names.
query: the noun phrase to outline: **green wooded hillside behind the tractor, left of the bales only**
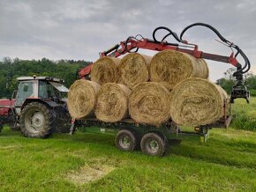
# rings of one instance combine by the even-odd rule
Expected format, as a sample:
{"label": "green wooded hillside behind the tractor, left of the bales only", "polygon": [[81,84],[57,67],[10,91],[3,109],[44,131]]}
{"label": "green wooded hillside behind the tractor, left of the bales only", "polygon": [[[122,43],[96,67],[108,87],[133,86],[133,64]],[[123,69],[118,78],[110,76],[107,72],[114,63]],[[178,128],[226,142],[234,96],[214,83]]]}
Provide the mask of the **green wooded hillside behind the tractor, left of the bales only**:
{"label": "green wooded hillside behind the tractor, left of the bales only", "polygon": [[77,72],[89,63],[83,60],[20,60],[4,57],[0,61],[0,98],[11,98],[12,92],[18,88],[16,78],[22,76],[63,78],[64,85],[70,87],[78,78]]}

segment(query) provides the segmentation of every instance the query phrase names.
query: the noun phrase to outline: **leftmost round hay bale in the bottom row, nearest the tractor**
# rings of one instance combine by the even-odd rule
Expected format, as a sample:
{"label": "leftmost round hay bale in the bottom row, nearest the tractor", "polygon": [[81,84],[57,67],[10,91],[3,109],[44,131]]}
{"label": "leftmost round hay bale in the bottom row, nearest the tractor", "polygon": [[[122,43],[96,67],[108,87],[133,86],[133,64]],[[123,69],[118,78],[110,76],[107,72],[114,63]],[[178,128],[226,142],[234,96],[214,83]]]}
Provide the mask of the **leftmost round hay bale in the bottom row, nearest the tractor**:
{"label": "leftmost round hay bale in the bottom row, nearest the tractor", "polygon": [[101,85],[85,79],[77,80],[71,85],[67,106],[73,119],[94,114],[96,94],[100,88]]}

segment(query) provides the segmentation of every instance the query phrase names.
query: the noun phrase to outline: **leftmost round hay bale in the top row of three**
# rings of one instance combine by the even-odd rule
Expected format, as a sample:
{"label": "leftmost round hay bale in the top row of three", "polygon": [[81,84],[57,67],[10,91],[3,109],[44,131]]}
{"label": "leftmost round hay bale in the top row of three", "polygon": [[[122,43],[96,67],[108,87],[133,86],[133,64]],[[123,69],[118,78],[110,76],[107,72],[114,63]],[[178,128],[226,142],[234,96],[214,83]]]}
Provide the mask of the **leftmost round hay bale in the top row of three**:
{"label": "leftmost round hay bale in the top row of three", "polygon": [[117,83],[117,65],[120,59],[113,57],[102,57],[98,59],[92,67],[92,81],[104,85],[107,83]]}

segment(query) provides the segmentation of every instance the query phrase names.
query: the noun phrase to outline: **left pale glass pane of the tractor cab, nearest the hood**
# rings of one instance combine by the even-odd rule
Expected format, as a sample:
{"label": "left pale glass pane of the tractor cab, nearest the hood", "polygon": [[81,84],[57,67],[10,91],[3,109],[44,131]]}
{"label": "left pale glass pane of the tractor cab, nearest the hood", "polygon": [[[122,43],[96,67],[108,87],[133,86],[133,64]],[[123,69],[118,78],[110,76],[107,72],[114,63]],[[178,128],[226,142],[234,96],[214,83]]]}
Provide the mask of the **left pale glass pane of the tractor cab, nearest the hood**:
{"label": "left pale glass pane of the tractor cab, nearest the hood", "polygon": [[33,82],[20,82],[16,105],[21,106],[29,97],[33,97]]}

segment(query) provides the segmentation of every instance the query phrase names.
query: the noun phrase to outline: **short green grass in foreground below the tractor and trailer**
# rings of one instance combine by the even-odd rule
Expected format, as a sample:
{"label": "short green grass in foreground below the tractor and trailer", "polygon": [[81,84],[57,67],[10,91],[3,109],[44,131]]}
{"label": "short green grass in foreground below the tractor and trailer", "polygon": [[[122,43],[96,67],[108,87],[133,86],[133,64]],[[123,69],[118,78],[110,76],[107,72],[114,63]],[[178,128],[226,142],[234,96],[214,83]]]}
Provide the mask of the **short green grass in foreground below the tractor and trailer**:
{"label": "short green grass in foreground below the tractor and trailer", "polygon": [[[101,167],[112,171],[84,184],[71,180]],[[256,191],[256,132],[213,129],[206,144],[186,140],[162,158],[119,151],[109,135],[41,140],[7,127],[0,135],[0,191],[121,190]]]}

